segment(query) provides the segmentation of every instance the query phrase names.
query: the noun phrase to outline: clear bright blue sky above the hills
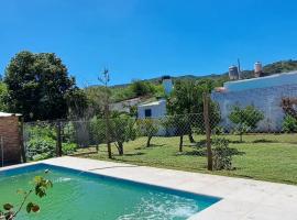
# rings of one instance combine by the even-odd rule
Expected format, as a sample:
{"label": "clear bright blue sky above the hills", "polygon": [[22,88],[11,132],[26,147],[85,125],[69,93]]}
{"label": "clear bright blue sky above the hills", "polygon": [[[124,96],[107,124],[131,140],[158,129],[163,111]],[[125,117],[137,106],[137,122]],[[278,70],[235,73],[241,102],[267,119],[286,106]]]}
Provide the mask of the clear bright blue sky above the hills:
{"label": "clear bright blue sky above the hills", "polygon": [[0,73],[18,52],[54,52],[84,87],[244,69],[297,58],[295,0],[1,0]]}

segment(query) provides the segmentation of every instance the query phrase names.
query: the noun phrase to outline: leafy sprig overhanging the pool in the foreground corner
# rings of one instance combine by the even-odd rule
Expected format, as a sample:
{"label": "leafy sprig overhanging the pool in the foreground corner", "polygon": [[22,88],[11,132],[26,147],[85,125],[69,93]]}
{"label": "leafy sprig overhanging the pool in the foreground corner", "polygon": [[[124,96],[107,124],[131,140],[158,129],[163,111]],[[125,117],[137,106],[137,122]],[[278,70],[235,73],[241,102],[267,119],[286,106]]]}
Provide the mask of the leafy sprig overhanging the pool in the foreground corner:
{"label": "leafy sprig overhanging the pool in the foreground corner", "polygon": [[[20,207],[16,209],[16,211],[13,210],[14,206],[11,204],[4,204],[3,209],[4,211],[0,210],[0,219],[4,218],[6,220],[13,220],[19,215],[19,212],[22,210],[23,206],[25,205],[29,197],[34,193],[40,198],[43,198],[46,196],[46,191],[48,188],[53,187],[53,183],[42,176],[35,176],[33,179],[34,185],[29,191],[24,191],[19,189],[18,194],[22,195],[22,202]],[[38,212],[40,206],[35,202],[29,201],[25,206],[26,212]]]}

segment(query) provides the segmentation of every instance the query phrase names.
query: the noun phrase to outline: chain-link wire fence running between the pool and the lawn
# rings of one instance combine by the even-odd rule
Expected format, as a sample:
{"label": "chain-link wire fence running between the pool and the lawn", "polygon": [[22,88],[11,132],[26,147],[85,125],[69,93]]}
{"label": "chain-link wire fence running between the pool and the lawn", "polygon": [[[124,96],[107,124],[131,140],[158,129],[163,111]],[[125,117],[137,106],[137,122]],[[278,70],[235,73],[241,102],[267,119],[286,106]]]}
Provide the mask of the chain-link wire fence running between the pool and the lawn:
{"label": "chain-link wire fence running between the pool and the lawn", "polygon": [[[184,146],[206,147],[210,142],[215,166],[220,167],[222,165],[218,155],[235,154],[234,151],[226,153],[228,151],[223,148],[229,144],[297,144],[296,100],[282,99],[279,107],[276,107],[277,111],[282,109],[277,117],[273,117],[276,116],[272,113],[276,111],[273,107],[261,109],[253,105],[222,106],[211,100],[207,105],[204,112],[191,114],[143,119],[120,114],[109,119],[108,125],[107,120],[96,117],[87,121],[24,123],[26,157],[35,161],[56,155],[97,153],[99,148],[106,148],[108,140],[120,155],[125,153],[125,145],[131,143],[138,147],[150,147],[161,146],[166,142],[182,152]],[[226,157],[228,158],[224,155]]]}

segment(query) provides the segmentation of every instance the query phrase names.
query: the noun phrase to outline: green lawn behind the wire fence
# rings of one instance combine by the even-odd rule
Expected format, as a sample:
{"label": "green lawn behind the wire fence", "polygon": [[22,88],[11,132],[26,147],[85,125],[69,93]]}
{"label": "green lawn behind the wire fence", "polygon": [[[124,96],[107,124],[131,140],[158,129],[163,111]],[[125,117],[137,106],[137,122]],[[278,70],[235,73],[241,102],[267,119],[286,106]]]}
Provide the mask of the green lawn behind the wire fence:
{"label": "green lawn behind the wire fence", "polygon": [[[297,185],[297,134],[257,134],[244,135],[244,143],[238,143],[239,136],[228,135],[230,147],[237,150],[233,155],[233,170],[219,170],[211,174],[238,176]],[[198,142],[205,139],[196,135]],[[145,138],[124,144],[124,155],[118,156],[113,148],[113,162],[164,167],[172,169],[210,173],[206,169],[205,147],[193,146],[185,136],[184,152],[178,152],[179,138],[153,138],[152,146],[145,147]],[[95,148],[81,152],[94,151]],[[105,145],[99,153],[80,155],[95,160],[108,160]]]}

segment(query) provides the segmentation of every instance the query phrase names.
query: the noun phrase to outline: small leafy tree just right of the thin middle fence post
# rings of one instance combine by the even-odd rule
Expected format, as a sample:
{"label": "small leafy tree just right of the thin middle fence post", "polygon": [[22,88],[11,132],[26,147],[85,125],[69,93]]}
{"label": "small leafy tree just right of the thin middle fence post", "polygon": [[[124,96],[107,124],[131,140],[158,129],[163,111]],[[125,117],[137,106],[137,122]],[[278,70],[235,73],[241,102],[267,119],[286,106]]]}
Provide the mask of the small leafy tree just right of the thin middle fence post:
{"label": "small leafy tree just right of the thin middle fence post", "polygon": [[120,156],[123,155],[123,143],[133,141],[136,138],[134,122],[135,120],[127,114],[113,113],[110,122],[111,140],[114,142]]}

